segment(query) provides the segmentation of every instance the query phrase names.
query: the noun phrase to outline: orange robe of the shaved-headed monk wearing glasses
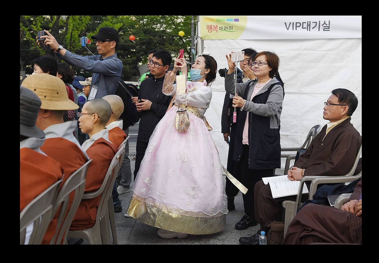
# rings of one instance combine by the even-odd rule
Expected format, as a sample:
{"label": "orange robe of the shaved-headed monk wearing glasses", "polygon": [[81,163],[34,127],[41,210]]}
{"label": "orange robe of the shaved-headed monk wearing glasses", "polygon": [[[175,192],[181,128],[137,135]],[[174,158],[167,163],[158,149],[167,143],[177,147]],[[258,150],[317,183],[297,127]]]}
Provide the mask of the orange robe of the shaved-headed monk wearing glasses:
{"label": "orange robe of the shaved-headed monk wearing glasses", "polygon": [[[117,147],[104,138],[99,138],[86,150],[86,153],[93,160],[87,172],[85,193],[96,192],[103,184],[108,167],[117,153]],[[81,200],[70,230],[75,231],[94,226],[99,203],[100,196]]]}

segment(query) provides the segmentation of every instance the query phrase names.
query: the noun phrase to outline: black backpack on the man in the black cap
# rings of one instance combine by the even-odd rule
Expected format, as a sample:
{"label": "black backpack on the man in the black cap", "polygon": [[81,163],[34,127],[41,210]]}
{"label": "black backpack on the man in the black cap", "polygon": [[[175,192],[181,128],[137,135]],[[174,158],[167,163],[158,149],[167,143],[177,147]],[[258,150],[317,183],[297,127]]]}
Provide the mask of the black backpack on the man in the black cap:
{"label": "black backpack on the man in the black cap", "polygon": [[132,97],[138,97],[138,88],[131,84],[125,83],[124,80],[119,79],[119,85],[116,89],[116,95],[120,96],[124,102],[124,112],[121,114],[120,119],[122,119],[122,129],[125,130],[129,126],[133,126],[139,121],[139,114],[137,113],[137,108],[132,102]]}

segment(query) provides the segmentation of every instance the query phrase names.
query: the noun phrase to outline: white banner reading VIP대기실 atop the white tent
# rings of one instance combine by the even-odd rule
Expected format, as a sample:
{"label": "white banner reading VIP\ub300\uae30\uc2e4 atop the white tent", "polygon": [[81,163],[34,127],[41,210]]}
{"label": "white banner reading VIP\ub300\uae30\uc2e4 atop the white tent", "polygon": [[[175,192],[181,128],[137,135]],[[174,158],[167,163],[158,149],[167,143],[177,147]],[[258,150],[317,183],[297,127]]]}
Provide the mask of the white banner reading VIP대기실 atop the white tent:
{"label": "white banner reading VIP\ub300\uae30\uc2e4 atop the white tent", "polygon": [[362,38],[360,15],[200,15],[201,39]]}

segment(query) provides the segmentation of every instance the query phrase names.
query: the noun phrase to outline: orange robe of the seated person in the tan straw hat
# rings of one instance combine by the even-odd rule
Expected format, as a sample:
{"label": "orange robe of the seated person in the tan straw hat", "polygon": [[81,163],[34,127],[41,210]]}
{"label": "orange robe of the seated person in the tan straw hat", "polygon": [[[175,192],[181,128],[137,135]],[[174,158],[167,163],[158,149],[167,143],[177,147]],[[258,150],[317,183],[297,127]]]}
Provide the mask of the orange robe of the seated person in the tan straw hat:
{"label": "orange robe of the seated person in the tan straw hat", "polygon": [[[45,143],[41,146],[41,150],[42,152],[46,153],[46,155],[60,162],[61,166],[63,167],[64,178],[61,187],[63,186],[64,182],[72,175],[72,173],[78,170],[87,161],[86,156],[78,147],[78,145],[64,138],[46,139]],[[71,207],[73,199],[74,192],[70,193],[67,213]],[[50,241],[53,238],[56,231],[59,212],[60,209],[58,209],[53,220],[50,222],[49,227],[47,228],[46,234],[44,236],[44,240],[42,240],[42,244],[50,244]]]}

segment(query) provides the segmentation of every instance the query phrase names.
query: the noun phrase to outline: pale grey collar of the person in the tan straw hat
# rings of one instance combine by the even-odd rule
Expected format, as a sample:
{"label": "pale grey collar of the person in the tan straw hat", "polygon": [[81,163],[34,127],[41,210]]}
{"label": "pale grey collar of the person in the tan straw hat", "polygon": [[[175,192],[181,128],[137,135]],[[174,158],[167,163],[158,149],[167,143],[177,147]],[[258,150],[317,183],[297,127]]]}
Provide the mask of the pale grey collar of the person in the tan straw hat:
{"label": "pale grey collar of the person in the tan straw hat", "polygon": [[74,134],[72,133],[75,131],[77,125],[77,121],[66,121],[59,124],[50,125],[49,127],[45,128],[45,138],[63,138],[70,142],[74,142],[74,144],[78,145],[79,149],[83,152],[83,154],[86,156],[87,161],[89,160],[89,157],[85,150],[81,147],[78,140],[74,137]]}

